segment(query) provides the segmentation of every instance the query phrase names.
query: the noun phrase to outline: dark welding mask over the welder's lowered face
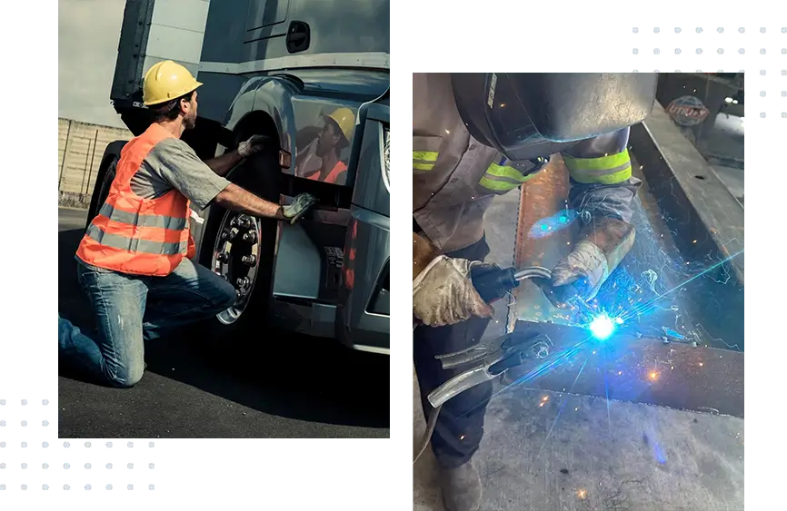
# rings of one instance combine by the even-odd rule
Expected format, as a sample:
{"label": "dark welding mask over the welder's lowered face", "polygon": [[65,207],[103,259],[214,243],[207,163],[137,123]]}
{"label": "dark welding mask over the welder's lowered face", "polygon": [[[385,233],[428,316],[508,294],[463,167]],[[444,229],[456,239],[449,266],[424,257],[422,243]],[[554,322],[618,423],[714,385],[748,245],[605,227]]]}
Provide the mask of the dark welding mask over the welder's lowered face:
{"label": "dark welding mask over the welder's lowered face", "polygon": [[513,161],[643,122],[657,79],[647,73],[451,74],[468,131]]}

